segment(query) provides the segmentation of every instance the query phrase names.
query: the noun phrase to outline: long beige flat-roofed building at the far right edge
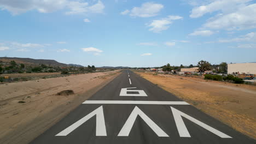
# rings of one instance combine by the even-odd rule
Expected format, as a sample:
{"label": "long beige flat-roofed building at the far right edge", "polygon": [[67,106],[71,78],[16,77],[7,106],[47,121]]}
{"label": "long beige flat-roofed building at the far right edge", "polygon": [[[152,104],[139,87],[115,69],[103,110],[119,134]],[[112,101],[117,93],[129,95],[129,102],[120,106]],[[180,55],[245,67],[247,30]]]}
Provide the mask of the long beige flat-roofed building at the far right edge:
{"label": "long beige flat-roofed building at the far right edge", "polygon": [[228,74],[256,74],[256,63],[228,64]]}

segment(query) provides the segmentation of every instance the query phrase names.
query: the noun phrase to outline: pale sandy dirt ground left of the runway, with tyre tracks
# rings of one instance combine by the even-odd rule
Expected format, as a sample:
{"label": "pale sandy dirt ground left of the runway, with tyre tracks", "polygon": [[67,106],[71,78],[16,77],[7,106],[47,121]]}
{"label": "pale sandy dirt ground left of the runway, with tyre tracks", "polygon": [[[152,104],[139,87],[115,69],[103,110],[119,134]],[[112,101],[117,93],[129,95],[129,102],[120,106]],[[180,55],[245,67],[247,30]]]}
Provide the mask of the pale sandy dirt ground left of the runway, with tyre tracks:
{"label": "pale sandy dirt ground left of the runway, with tyre tracks", "polygon": [[[0,85],[0,143],[30,142],[118,74],[115,70]],[[56,95],[67,89],[75,94]]]}

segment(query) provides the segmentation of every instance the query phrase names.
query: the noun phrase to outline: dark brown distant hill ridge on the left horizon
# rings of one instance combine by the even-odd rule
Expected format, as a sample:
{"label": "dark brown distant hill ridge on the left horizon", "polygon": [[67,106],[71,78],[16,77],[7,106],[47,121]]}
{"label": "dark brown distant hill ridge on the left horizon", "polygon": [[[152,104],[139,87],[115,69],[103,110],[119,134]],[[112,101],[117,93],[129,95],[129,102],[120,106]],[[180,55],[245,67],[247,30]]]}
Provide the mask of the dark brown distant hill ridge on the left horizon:
{"label": "dark brown distant hill ridge on the left horizon", "polygon": [[10,62],[15,61],[16,63],[30,64],[30,65],[51,65],[53,67],[68,67],[68,64],[59,63],[51,59],[33,59],[33,58],[19,58],[19,57],[0,57],[0,61]]}

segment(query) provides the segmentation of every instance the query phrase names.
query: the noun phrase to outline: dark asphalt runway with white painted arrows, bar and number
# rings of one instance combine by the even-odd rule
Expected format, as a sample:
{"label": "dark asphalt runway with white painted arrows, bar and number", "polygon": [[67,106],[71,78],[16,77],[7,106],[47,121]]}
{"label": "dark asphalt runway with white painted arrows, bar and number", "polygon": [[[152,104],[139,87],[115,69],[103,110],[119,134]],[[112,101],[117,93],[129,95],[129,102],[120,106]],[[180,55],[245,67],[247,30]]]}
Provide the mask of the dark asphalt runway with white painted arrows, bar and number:
{"label": "dark asphalt runway with white painted arrows, bar and number", "polygon": [[31,143],[256,143],[130,70]]}

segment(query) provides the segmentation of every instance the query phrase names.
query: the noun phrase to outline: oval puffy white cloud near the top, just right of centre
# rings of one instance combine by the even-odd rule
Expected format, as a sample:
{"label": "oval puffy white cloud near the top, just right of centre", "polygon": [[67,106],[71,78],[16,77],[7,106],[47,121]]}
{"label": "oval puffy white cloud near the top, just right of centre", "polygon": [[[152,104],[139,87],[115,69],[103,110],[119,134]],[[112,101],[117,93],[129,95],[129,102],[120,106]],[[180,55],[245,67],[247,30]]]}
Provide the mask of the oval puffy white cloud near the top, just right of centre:
{"label": "oval puffy white cloud near the top, just right of centre", "polygon": [[147,2],[147,3],[143,3],[141,5],[141,7],[132,8],[130,16],[134,16],[134,17],[152,17],[152,16],[158,15],[159,11],[162,8],[164,8],[164,5],[162,5],[162,4]]}

